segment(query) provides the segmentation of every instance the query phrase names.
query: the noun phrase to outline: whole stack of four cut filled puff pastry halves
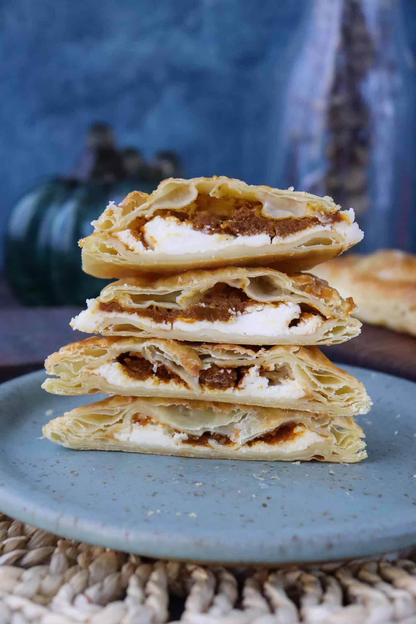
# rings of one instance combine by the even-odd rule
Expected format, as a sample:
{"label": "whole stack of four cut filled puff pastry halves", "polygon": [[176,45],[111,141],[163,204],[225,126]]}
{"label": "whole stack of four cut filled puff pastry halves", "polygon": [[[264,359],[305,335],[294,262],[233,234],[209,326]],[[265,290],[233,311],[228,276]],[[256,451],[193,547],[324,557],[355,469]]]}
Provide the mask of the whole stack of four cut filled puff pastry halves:
{"label": "whole stack of four cut filled puff pastry halves", "polygon": [[[170,179],[110,203],[80,241],[106,286],[47,358],[56,394],[112,397],[49,422],[75,449],[356,462],[364,386],[317,344],[354,338],[355,306],[300,271],[362,238],[329,197],[225,177]],[[284,272],[283,272],[284,271]]]}

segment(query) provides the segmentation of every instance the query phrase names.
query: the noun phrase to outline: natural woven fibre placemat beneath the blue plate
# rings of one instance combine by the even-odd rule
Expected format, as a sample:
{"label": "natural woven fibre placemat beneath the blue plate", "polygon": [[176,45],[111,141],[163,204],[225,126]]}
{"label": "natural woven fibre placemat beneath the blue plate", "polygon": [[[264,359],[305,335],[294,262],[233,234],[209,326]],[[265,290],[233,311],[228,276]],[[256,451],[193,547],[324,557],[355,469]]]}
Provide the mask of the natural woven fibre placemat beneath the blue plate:
{"label": "natural woven fibre placemat beneath the blue plate", "polygon": [[416,624],[415,557],[264,568],[156,561],[0,514],[0,624]]}

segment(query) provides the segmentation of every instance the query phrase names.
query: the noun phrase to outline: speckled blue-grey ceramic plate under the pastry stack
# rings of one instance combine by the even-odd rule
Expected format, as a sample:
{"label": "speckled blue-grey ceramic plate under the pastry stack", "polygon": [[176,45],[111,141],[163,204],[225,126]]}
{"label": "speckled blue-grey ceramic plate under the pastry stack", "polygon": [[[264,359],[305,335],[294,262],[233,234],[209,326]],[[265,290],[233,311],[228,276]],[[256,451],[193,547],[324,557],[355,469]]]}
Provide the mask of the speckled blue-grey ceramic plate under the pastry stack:
{"label": "speckled blue-grey ceramic plate under the pastry stack", "polygon": [[43,371],[0,386],[0,510],[64,537],[142,555],[279,563],[416,543],[416,384],[348,367],[374,401],[359,464],[72,451],[39,439],[59,397]]}

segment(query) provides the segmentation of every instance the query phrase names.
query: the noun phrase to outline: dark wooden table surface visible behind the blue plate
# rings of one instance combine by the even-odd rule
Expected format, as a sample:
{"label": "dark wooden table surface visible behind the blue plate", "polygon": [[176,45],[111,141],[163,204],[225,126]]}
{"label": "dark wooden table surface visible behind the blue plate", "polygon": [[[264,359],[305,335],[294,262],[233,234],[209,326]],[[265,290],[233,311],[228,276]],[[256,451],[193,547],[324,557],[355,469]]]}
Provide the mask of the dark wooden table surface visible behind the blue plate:
{"label": "dark wooden table surface visible behind the blue plate", "polygon": [[[0,311],[0,382],[42,368],[44,359],[87,334],[72,331],[78,308],[6,308]],[[416,338],[364,325],[358,338],[324,347],[332,361],[416,381]]]}

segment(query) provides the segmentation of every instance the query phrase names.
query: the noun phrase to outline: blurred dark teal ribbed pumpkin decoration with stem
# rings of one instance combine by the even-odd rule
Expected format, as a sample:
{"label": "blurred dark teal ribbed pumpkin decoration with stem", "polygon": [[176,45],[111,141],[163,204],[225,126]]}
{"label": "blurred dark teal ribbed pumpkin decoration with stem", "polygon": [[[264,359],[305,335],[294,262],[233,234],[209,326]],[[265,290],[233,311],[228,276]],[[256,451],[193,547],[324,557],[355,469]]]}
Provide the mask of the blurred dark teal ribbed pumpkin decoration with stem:
{"label": "blurred dark teal ribbed pumpkin decoration with stem", "polygon": [[12,210],[5,244],[14,296],[27,306],[83,305],[97,296],[109,280],[82,272],[79,239],[92,233],[109,201],[150,193],[163,177],[138,150],[117,152],[109,127],[95,124],[72,175],[42,181]]}

